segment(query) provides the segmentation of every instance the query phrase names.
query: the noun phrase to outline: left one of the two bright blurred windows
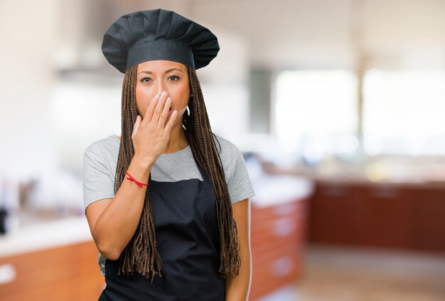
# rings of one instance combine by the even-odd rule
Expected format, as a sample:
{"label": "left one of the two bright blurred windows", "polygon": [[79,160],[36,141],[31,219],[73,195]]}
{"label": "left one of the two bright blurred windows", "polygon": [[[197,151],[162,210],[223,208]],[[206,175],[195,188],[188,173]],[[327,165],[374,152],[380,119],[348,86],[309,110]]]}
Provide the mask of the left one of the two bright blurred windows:
{"label": "left one of the two bright blurred windows", "polygon": [[293,70],[277,76],[275,134],[282,147],[316,163],[358,149],[357,79],[346,70]]}

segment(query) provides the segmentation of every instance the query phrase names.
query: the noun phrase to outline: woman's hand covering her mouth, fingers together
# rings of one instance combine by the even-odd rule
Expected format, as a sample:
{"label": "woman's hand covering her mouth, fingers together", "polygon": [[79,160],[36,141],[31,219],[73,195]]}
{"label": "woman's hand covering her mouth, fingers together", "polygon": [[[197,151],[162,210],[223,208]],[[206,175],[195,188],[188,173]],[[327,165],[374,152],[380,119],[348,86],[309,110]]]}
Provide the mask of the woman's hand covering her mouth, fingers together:
{"label": "woman's hand covering her mouth, fingers together", "polygon": [[170,105],[171,98],[165,91],[161,96],[155,95],[147,107],[144,119],[138,115],[134,123],[132,133],[134,155],[150,165],[153,165],[166,149],[171,129],[178,116],[178,112],[174,110],[166,123]]}

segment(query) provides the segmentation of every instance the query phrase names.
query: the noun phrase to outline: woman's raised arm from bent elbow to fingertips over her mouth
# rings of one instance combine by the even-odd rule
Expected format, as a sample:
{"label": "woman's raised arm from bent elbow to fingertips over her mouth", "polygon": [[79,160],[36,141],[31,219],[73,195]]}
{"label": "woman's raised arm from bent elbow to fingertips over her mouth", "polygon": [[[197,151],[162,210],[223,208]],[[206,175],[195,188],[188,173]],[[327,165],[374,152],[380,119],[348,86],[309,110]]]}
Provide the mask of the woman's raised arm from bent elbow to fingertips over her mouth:
{"label": "woman's raised arm from bent elbow to fingertips over her mouth", "polygon": [[[171,114],[166,123],[171,101],[167,93],[156,95],[146,110],[144,120],[137,116],[132,140],[134,158],[128,171],[135,179],[149,181],[151,166],[166,149],[178,113]],[[136,157],[137,156],[137,157]],[[136,158],[136,159],[135,159]],[[146,187],[122,181],[113,198],[100,199],[87,206],[86,214],[97,249],[111,260],[117,260],[134,236],[144,209]]]}

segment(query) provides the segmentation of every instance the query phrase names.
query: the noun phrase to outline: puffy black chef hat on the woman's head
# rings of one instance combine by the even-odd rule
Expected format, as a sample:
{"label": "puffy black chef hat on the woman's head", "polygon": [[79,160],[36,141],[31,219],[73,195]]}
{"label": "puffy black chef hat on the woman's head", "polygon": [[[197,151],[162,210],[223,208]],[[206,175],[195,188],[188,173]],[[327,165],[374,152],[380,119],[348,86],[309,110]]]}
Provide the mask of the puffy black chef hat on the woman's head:
{"label": "puffy black chef hat on the woman's head", "polygon": [[173,60],[198,69],[219,50],[218,39],[207,28],[163,9],[125,14],[109,26],[102,41],[105,58],[122,73],[146,60]]}

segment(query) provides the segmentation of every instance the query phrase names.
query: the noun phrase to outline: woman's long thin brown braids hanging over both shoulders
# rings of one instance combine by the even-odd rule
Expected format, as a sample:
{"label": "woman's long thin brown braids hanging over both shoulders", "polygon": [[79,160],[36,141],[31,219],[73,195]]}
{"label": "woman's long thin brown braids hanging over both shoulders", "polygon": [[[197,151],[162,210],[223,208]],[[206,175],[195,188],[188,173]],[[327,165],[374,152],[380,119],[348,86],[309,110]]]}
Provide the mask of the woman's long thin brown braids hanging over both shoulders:
{"label": "woman's long thin brown braids hanging over both shoulders", "polygon": [[[138,112],[136,110],[136,71],[137,65],[127,68],[122,85],[122,137],[120,139],[117,159],[114,193],[119,190],[125,171],[134,156],[132,132]],[[188,101],[188,112],[183,114],[182,125],[193,153],[195,162],[205,171],[213,187],[216,202],[218,230],[220,239],[220,277],[240,273],[239,242],[237,226],[232,217],[232,204],[225,181],[223,164],[216,147],[218,140],[210,129],[204,97],[198,76],[193,68],[188,67],[188,78],[191,97]],[[218,142],[219,144],[219,142]],[[219,145],[220,147],[220,145]],[[144,196],[144,208],[136,231],[122,251],[118,275],[140,273],[151,282],[156,275],[161,277],[161,257],[156,248],[156,233],[150,191],[147,186]]]}

